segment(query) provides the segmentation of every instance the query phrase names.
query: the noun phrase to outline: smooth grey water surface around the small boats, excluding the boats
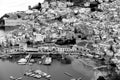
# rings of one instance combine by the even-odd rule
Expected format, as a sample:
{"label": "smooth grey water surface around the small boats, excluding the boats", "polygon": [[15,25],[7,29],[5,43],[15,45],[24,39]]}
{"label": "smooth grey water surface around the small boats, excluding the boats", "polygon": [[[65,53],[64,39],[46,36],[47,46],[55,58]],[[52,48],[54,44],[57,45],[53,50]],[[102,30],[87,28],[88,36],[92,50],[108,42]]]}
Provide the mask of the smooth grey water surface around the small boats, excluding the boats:
{"label": "smooth grey water surface around the small boats, excluding the boats", "polygon": [[[52,76],[52,80],[70,80],[71,77],[66,76],[64,72],[70,73],[74,78],[82,77],[83,80],[90,80],[93,71],[86,69],[84,65],[77,60],[73,60],[71,64],[62,64],[57,60],[53,60],[50,66],[34,63],[33,65],[18,65],[17,61],[21,57],[0,60],[0,80],[9,80],[9,76],[23,77],[23,80],[37,80],[31,77],[25,77],[23,74],[29,69],[40,69]],[[2,76],[2,77],[1,77]],[[41,78],[40,80],[45,80]]]}

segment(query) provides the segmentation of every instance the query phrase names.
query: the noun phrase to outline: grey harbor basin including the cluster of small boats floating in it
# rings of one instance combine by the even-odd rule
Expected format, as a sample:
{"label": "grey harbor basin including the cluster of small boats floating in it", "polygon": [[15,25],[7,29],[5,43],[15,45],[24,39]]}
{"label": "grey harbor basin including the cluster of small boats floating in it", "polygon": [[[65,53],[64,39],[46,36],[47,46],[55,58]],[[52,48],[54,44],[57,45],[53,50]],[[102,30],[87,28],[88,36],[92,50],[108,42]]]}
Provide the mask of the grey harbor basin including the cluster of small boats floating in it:
{"label": "grey harbor basin including the cluster of small boats floating in it", "polygon": [[[60,61],[53,59],[51,65],[39,64],[37,62],[21,65],[18,64],[21,58],[0,59],[0,78],[2,80],[90,80],[93,78],[93,71],[84,68],[82,64],[62,64]],[[9,65],[9,66],[8,66]],[[79,70],[74,66],[79,65]],[[86,70],[86,71],[83,71]],[[78,79],[82,78],[82,79]]]}

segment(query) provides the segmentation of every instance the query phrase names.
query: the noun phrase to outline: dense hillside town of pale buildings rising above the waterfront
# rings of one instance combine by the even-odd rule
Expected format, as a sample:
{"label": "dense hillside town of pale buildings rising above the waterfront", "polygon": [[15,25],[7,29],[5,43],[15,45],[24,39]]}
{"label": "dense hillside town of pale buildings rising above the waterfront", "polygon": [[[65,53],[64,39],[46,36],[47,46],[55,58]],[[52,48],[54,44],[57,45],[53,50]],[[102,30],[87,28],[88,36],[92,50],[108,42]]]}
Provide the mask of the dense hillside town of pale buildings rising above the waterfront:
{"label": "dense hillside town of pale buildings rising above the waterfront", "polygon": [[100,63],[90,65],[100,73],[96,73],[98,77],[94,80],[119,80],[120,1],[85,0],[81,4],[77,1],[45,0],[28,6],[27,11],[3,15],[1,58],[15,54],[76,55],[78,59],[82,56],[83,60],[89,58]]}

